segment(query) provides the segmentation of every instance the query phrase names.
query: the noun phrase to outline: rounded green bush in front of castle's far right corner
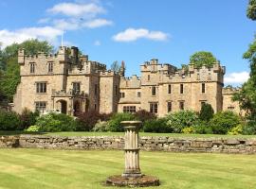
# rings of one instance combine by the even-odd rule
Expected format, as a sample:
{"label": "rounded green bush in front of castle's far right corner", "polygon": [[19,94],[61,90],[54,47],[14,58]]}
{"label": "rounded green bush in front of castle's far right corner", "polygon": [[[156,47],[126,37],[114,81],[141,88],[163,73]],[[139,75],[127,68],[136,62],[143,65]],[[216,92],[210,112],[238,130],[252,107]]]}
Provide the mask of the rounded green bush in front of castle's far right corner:
{"label": "rounded green bush in front of castle's far right corner", "polygon": [[236,127],[241,120],[234,112],[217,112],[210,119],[210,127],[214,134],[227,134],[229,129]]}

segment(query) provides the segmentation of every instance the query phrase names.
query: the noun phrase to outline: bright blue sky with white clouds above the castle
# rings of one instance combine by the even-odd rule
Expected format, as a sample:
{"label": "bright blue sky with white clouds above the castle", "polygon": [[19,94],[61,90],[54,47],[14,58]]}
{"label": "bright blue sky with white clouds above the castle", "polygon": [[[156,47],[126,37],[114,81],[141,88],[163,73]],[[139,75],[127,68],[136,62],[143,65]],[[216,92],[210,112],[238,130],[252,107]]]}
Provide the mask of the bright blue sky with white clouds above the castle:
{"label": "bright blue sky with white clouds above the castle", "polygon": [[255,34],[247,0],[1,0],[2,48],[29,38],[77,45],[108,66],[124,60],[126,76],[152,58],[179,67],[201,50],[227,67],[226,84],[247,79],[242,56]]}

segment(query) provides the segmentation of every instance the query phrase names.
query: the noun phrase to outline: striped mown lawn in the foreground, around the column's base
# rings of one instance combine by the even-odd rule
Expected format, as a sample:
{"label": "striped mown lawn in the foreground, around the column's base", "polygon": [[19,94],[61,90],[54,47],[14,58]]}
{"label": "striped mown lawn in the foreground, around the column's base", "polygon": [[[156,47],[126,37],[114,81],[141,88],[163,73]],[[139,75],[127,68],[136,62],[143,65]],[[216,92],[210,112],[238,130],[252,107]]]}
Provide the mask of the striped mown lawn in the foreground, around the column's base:
{"label": "striped mown lawn in the foreground, around the column's base", "polygon": [[[122,151],[0,149],[0,188],[109,188],[123,171]],[[160,179],[159,189],[254,189],[256,156],[140,152],[142,173]]]}

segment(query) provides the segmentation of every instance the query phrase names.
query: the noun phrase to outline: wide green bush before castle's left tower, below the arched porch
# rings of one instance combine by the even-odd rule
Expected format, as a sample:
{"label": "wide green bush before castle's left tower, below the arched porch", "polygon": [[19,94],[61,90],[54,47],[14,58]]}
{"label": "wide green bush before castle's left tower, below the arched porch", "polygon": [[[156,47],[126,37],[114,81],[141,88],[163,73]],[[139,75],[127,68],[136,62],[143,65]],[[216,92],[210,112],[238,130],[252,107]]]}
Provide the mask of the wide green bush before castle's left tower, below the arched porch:
{"label": "wide green bush before castle's left tower, below the arched porch", "polygon": [[78,128],[78,122],[63,113],[48,113],[37,118],[36,126],[44,132],[74,131]]}

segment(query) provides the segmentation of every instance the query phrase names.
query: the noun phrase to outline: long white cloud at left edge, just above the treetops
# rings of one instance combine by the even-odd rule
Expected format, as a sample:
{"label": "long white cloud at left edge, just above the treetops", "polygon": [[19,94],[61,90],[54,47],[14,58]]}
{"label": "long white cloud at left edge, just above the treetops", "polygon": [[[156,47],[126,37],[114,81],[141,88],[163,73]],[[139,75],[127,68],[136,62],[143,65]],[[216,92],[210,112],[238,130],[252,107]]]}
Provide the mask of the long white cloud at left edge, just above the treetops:
{"label": "long white cloud at left edge, just above the treetops", "polygon": [[7,29],[0,30],[0,39],[3,48],[11,43],[23,43],[28,39],[46,40],[54,43],[63,31],[51,26],[43,27],[24,27],[14,31]]}

